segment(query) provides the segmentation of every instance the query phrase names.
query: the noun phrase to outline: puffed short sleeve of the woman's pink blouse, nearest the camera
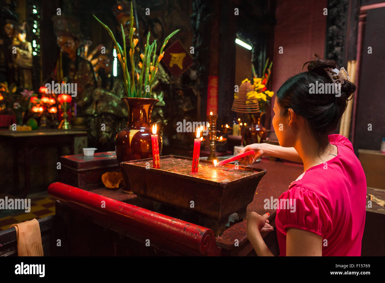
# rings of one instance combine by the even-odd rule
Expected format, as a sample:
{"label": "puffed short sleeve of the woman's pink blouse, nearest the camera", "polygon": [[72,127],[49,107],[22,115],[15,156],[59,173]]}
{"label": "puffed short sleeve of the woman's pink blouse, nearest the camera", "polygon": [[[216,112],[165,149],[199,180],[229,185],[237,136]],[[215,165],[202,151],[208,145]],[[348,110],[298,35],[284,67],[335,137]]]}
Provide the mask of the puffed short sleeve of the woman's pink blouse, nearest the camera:
{"label": "puffed short sleeve of the woman's pink blouse, nearest the camera", "polygon": [[[282,205],[291,203],[289,208]],[[287,201],[289,200],[289,201]],[[283,228],[297,228],[326,238],[333,228],[331,214],[325,200],[310,189],[293,186],[280,196],[276,217]]]}

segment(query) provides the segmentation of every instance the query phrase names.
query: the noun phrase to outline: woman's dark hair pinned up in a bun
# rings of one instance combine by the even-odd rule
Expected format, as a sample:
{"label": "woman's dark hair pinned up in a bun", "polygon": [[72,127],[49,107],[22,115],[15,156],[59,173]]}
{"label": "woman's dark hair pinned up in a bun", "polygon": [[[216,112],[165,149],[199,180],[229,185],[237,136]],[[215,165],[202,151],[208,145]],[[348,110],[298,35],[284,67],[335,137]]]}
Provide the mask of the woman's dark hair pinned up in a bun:
{"label": "woman's dark hair pinned up in a bun", "polygon": [[318,141],[318,150],[323,151],[329,144],[328,134],[336,129],[338,121],[346,109],[347,101],[355,92],[356,86],[345,80],[341,84],[340,96],[336,96],[335,92],[311,93],[311,84],[316,86],[316,81],[318,81],[318,85],[333,84],[325,68],[337,68],[334,60],[323,59],[317,54],[313,54],[313,56],[315,56],[315,60],[308,61],[303,65],[305,67],[308,64],[308,71],[286,80],[276,95],[281,108],[281,115],[286,115],[288,109],[291,108],[297,115],[303,117]]}

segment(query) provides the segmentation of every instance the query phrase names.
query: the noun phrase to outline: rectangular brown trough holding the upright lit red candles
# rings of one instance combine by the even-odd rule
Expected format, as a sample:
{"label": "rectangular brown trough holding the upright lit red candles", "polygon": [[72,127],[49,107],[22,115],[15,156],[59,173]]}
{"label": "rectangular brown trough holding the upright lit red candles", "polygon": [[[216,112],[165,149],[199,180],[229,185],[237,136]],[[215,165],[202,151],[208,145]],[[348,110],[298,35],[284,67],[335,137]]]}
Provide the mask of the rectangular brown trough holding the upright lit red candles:
{"label": "rectangular brown trough holding the upright lit red candles", "polygon": [[246,208],[266,174],[264,169],[232,164],[215,167],[205,160],[199,161],[198,173],[191,174],[192,159],[172,155],[160,157],[160,169],[151,164],[152,159],[121,163],[134,194],[156,202],[156,208],[170,206],[174,217],[211,228],[217,236],[231,214],[246,217]]}

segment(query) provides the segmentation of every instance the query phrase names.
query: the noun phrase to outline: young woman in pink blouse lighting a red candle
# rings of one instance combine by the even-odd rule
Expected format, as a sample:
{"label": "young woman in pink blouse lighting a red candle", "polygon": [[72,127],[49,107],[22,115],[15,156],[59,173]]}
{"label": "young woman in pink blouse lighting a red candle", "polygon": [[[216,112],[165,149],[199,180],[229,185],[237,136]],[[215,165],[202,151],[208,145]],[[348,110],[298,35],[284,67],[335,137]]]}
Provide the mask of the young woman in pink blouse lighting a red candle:
{"label": "young woman in pink blouse lighting a red candle", "polygon": [[[331,134],[356,86],[333,60],[316,59],[280,87],[274,103],[273,126],[280,146],[251,144],[255,156],[303,162],[304,172],[279,199],[295,199],[296,210],[279,207],[275,223],[280,256],[360,256],[365,225],[366,178],[351,142]],[[304,66],[305,66],[304,65]],[[326,69],[326,70],[325,70]],[[341,82],[340,95],[315,94],[311,84]],[[280,201],[281,203],[281,201]],[[258,256],[273,256],[261,233],[272,231],[268,213],[251,212],[247,236]]]}

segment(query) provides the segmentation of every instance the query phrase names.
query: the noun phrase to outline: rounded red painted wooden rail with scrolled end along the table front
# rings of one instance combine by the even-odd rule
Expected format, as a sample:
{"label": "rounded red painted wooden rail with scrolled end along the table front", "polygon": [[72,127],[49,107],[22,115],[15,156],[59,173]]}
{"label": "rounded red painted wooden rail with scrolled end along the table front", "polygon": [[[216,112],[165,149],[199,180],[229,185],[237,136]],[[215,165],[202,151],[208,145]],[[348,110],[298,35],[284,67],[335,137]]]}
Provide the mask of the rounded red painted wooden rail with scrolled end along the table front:
{"label": "rounded red painted wooden rail with scrolled end along the table front", "polygon": [[[90,214],[96,212],[120,221],[129,229],[135,229],[135,232],[139,234],[141,231],[145,231],[154,235],[154,238],[164,239],[167,243],[175,243],[178,247],[185,248],[186,253],[195,250],[201,254],[207,253],[209,256],[220,255],[221,249],[216,245],[213,230],[203,226],[84,191],[64,183],[50,184],[48,193],[62,201],[85,208],[90,211]],[[102,208],[102,201],[105,201],[105,208]]]}

